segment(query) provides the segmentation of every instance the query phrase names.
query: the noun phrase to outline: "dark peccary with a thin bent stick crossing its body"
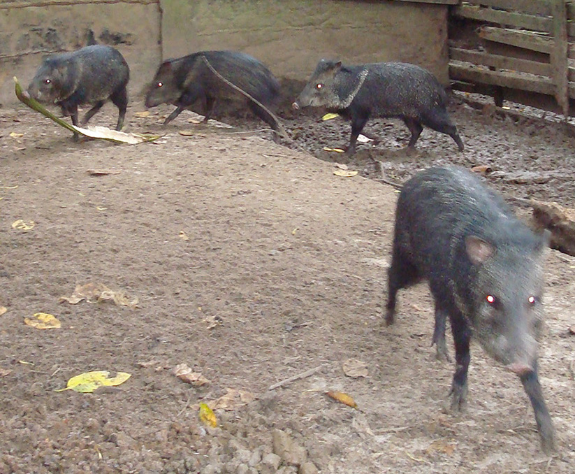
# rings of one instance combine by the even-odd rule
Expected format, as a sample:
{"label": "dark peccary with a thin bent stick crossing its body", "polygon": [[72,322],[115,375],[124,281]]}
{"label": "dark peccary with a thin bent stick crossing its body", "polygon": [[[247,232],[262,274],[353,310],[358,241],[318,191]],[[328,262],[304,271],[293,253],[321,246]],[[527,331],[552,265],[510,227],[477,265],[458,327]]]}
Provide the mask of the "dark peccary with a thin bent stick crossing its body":
{"label": "dark peccary with a thin bent stick crossing its body", "polygon": [[[249,110],[277,132],[275,117],[251,99],[226,84],[210,70],[205,59],[219,75],[235,87],[252,96],[265,108],[273,106],[279,95],[279,83],[258,59],[237,51],[199,51],[192,55],[164,61],[154,76],[147,92],[146,107],[171,103],[177,108],[168,115],[168,124],[184,109],[191,109],[196,101],[201,101],[200,112],[204,122],[208,122],[219,100],[243,101]],[[274,134],[277,140],[277,133]]]}

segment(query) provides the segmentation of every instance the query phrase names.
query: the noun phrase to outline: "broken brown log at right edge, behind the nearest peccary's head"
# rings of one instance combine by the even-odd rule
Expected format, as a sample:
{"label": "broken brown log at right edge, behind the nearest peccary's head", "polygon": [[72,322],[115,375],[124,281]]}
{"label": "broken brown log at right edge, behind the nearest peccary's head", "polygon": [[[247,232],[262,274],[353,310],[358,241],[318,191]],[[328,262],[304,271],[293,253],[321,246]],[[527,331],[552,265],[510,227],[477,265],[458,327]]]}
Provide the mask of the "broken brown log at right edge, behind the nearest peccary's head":
{"label": "broken brown log at right edge, behind the nearest peccary's head", "polygon": [[558,203],[530,201],[535,229],[551,231],[549,246],[575,256],[575,210]]}

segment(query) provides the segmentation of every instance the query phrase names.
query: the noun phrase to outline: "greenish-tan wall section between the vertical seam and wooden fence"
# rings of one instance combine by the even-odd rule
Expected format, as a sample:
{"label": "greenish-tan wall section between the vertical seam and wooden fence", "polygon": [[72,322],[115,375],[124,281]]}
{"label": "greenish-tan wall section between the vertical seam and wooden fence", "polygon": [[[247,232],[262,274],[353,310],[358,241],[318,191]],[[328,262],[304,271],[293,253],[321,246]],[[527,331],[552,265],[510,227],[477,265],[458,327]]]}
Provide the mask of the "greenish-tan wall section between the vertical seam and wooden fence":
{"label": "greenish-tan wall section between the vertical seam and wooden fence", "polygon": [[319,59],[400,60],[447,84],[447,6],[402,1],[161,0],[163,55],[241,50],[278,77],[305,80]]}

